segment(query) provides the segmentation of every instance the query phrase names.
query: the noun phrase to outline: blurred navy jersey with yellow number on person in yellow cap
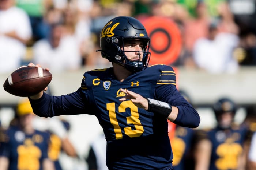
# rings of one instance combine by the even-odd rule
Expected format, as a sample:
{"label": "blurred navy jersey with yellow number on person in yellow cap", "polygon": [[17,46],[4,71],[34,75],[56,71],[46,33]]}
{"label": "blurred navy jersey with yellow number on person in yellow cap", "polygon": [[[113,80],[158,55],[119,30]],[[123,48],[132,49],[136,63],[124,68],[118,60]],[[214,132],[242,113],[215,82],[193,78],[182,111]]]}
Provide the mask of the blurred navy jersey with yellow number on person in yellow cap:
{"label": "blurred navy jersey with yellow number on person in yellow cap", "polygon": [[42,169],[42,161],[48,158],[48,133],[35,130],[28,135],[18,127],[10,126],[3,135],[0,156],[8,158],[9,170]]}

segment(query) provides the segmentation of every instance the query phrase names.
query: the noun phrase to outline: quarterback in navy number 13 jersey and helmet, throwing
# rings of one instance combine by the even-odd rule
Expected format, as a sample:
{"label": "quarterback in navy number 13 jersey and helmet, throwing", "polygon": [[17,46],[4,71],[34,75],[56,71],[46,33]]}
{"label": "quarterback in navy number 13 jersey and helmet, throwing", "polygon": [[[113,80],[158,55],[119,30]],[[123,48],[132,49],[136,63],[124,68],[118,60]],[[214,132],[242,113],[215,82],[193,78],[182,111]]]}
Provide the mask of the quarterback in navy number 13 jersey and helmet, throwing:
{"label": "quarterback in navy number 13 jersey and helmet, throwing", "polygon": [[50,96],[42,91],[30,96],[35,114],[95,115],[106,137],[109,169],[172,170],[167,119],[191,128],[200,123],[197,111],[176,88],[173,68],[147,67],[150,38],[133,17],[108,21],[100,44],[98,51],[113,67],[85,72],[81,87],[71,94]]}

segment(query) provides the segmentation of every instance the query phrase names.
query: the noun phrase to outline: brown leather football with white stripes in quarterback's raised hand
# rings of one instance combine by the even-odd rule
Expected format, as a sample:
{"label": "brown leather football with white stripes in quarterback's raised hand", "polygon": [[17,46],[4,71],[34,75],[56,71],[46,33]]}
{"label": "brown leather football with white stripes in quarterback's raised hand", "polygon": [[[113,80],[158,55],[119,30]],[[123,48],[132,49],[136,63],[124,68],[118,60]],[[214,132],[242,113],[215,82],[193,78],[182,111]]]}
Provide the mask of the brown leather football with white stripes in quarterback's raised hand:
{"label": "brown leather football with white stripes in quarterback's raised hand", "polygon": [[51,80],[52,74],[41,67],[22,66],[8,76],[3,87],[12,95],[28,97],[44,90]]}

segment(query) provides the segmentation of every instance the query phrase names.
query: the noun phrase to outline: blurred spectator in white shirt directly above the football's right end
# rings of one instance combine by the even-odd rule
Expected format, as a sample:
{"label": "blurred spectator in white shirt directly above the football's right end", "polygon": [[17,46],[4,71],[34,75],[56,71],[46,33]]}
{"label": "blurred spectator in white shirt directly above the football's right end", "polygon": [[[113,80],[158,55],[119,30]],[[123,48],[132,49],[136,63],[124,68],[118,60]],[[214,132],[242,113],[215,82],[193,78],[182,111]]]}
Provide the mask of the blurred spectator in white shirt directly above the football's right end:
{"label": "blurred spectator in white shirt directly above the football's right end", "polygon": [[79,46],[73,36],[64,36],[63,23],[51,25],[48,39],[37,41],[33,46],[35,63],[42,63],[52,71],[77,70],[82,65]]}

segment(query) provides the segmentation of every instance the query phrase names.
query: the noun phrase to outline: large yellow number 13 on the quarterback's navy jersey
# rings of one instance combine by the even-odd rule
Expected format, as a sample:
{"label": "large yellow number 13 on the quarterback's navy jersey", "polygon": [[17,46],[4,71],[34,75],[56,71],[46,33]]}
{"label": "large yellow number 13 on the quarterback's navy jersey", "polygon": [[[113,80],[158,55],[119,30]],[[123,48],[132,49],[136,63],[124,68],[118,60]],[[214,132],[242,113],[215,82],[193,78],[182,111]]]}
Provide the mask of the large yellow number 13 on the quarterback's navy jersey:
{"label": "large yellow number 13 on the quarterback's navy jersey", "polygon": [[[125,127],[124,133],[128,135],[129,137],[139,137],[144,132],[143,126],[140,123],[139,120],[139,113],[138,113],[138,107],[136,107],[131,100],[122,102],[118,107],[118,112],[125,112],[126,108],[131,109],[131,116],[126,117],[127,124],[133,124],[135,127],[135,130],[132,130],[131,127]],[[118,124],[117,118],[116,118],[116,107],[115,103],[107,103],[107,110],[109,111],[109,118],[111,124],[114,126],[114,132],[116,133],[116,139],[122,139],[123,134],[121,131],[121,128]]]}

